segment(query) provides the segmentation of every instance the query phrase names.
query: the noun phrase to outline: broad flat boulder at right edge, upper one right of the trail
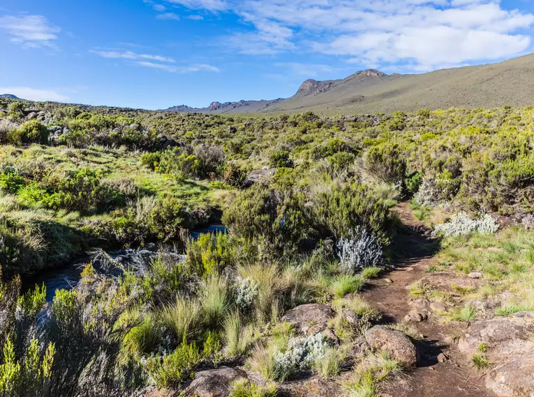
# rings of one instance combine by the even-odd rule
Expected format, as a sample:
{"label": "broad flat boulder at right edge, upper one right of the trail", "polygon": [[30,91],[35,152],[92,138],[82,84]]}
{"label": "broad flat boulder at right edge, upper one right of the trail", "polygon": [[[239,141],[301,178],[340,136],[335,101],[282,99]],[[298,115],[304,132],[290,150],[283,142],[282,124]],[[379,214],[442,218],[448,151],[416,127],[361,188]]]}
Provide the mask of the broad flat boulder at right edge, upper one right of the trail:
{"label": "broad flat boulder at right edge, upper one right of the trail", "polygon": [[459,350],[471,357],[480,344],[487,345],[491,361],[504,362],[534,350],[534,311],[524,311],[503,318],[473,322],[461,336]]}

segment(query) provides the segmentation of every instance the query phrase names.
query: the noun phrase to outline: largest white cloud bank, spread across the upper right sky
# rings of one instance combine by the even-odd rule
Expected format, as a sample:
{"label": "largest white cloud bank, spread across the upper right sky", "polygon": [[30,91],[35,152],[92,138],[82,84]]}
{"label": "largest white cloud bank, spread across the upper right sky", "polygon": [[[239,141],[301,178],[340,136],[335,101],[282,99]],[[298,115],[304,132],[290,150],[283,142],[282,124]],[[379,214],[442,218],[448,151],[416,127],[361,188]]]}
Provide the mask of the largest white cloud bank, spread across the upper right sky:
{"label": "largest white cloud bank, spread across the upper right sky", "polygon": [[228,11],[248,29],[225,42],[243,54],[312,51],[366,65],[427,70],[498,60],[531,48],[534,15],[498,0],[172,0]]}

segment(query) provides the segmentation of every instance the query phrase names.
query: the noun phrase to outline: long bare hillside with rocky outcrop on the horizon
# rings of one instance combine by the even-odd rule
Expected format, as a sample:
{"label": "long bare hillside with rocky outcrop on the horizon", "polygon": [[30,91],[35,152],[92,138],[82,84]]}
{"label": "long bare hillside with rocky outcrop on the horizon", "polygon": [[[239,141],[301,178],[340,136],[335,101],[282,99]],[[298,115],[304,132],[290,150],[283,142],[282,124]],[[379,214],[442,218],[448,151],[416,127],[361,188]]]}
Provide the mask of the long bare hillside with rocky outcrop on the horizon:
{"label": "long bare hillside with rocky outcrop on the horizon", "polygon": [[168,110],[202,113],[270,113],[312,110],[330,114],[446,109],[448,107],[521,107],[534,104],[534,54],[501,63],[443,69],[421,75],[386,75],[364,70],[346,79],[306,80],[285,100],[214,102],[205,109]]}

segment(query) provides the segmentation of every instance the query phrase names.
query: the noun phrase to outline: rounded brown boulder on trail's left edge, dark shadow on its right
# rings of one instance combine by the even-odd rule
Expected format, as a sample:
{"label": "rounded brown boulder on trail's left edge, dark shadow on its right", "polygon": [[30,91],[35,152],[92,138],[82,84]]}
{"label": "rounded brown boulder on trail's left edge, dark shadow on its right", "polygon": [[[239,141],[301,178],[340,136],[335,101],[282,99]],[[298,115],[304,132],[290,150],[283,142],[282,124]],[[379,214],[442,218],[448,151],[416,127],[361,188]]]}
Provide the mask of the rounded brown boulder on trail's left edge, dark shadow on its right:
{"label": "rounded brown boulder on trail's left edge, dark shadow on its right", "polygon": [[401,361],[404,366],[411,367],[417,364],[418,353],[415,345],[400,331],[375,325],[365,332],[365,339],[371,349],[389,351],[392,357]]}

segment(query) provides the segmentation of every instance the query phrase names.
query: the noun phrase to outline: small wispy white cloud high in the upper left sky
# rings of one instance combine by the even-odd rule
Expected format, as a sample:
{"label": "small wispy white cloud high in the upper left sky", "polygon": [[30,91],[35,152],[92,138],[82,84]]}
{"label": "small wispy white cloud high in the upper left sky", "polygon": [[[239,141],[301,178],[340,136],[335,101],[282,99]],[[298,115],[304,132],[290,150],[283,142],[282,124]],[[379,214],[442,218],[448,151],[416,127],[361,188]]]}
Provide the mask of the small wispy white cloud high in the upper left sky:
{"label": "small wispy white cloud high in the upper left sky", "polygon": [[23,47],[54,47],[53,40],[61,31],[41,15],[0,17],[0,29],[8,33],[11,42]]}

